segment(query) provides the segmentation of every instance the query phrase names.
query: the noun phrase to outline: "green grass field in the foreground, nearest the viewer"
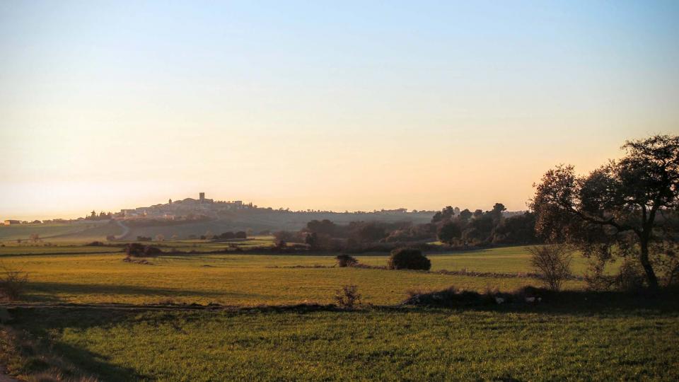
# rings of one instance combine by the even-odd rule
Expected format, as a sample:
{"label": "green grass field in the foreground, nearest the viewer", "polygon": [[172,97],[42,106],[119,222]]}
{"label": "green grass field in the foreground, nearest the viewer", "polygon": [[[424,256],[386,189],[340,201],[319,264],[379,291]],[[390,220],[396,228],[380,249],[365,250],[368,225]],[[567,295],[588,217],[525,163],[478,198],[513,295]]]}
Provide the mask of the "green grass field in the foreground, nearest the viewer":
{"label": "green grass field in the foreground, nearest the viewer", "polygon": [[676,310],[13,314],[18,328],[105,381],[679,378]]}

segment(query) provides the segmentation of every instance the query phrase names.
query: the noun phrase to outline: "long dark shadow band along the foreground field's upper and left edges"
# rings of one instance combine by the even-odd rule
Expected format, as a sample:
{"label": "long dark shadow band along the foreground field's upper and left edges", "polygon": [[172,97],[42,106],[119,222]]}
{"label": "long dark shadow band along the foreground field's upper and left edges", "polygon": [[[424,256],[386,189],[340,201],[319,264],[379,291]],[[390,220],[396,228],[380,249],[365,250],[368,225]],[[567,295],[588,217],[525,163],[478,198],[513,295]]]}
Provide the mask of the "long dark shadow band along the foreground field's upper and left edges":
{"label": "long dark shadow band along the foreground field's upper and left edges", "polygon": [[[65,343],[60,334],[70,330],[89,330],[91,328],[133,328],[139,323],[147,324],[148,328],[158,328],[161,325],[174,328],[182,333],[183,325],[190,321],[210,320],[220,316],[236,317],[247,322],[253,314],[306,314],[326,312],[337,315],[369,315],[371,313],[403,314],[434,314],[449,315],[465,311],[493,311],[512,315],[512,319],[521,320],[523,314],[544,314],[565,316],[605,317],[639,317],[679,313],[679,299],[676,291],[639,291],[639,292],[591,292],[564,291],[554,293],[538,290],[540,303],[526,303],[514,301],[509,303],[492,303],[489,301],[474,301],[468,296],[467,301],[457,301],[455,305],[445,306],[366,306],[357,310],[342,310],[332,305],[296,305],[296,306],[259,306],[254,308],[226,308],[219,306],[205,306],[195,311],[167,306],[165,310],[153,310],[143,306],[133,309],[115,308],[110,306],[72,306],[39,307],[11,309],[14,318],[11,325],[25,330],[33,337],[44,338],[50,342],[59,356],[65,357],[80,369],[95,374],[104,381],[131,381],[137,379],[153,379],[154,376],[140,375],[137,371],[114,364],[102,354],[92,352],[86,345]],[[339,316],[338,316],[339,317]],[[313,320],[313,317],[311,318]],[[548,322],[549,320],[545,320]],[[153,329],[151,329],[153,330]],[[153,333],[149,333],[153,335]],[[507,379],[510,380],[510,379]]]}

